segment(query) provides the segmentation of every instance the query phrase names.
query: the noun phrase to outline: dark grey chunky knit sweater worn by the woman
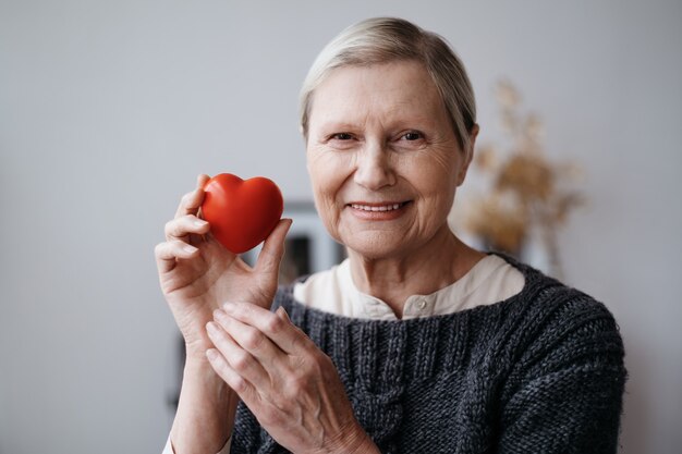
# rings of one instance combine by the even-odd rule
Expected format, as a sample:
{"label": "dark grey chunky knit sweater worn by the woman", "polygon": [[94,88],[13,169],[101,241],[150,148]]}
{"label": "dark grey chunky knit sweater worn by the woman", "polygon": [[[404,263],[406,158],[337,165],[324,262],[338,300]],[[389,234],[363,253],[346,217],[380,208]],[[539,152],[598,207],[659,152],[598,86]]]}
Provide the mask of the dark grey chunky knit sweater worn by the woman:
{"label": "dark grey chunky knit sweater worn by the woman", "polygon": [[[382,453],[616,453],[623,344],[592,297],[512,261],[521,293],[411,320],[310,309],[280,289],[275,308],[336,364]],[[240,404],[232,454],[287,453]]]}

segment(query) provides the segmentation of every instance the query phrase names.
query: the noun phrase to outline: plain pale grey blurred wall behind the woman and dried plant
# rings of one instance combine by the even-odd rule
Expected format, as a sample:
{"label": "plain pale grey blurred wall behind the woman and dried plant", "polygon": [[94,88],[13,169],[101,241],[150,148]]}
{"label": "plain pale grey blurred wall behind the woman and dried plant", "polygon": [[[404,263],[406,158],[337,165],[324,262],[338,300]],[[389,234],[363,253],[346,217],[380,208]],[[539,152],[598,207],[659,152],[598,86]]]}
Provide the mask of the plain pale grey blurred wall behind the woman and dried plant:
{"label": "plain pale grey blurred wall behind the woman and dried plant", "polygon": [[544,156],[583,169],[557,247],[565,282],[621,327],[621,452],[679,452],[679,0],[0,0],[1,454],[160,453],[180,361],[163,224],[198,173],[265,175],[309,203],[300,85],[376,15],[453,45],[480,144],[506,140],[507,79],[541,118]]}

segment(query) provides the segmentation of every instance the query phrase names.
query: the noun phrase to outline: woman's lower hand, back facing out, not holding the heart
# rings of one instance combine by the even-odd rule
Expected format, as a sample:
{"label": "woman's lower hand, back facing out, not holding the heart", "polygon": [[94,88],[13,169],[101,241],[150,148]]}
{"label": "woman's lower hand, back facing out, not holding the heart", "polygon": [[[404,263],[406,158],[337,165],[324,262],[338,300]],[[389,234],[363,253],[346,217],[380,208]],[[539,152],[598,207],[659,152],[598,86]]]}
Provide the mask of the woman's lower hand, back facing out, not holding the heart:
{"label": "woman's lower hand, back facing out, not holding the heart", "polygon": [[294,453],[378,453],[353,415],[337,369],[279,308],[227,303],[207,331],[214,370]]}

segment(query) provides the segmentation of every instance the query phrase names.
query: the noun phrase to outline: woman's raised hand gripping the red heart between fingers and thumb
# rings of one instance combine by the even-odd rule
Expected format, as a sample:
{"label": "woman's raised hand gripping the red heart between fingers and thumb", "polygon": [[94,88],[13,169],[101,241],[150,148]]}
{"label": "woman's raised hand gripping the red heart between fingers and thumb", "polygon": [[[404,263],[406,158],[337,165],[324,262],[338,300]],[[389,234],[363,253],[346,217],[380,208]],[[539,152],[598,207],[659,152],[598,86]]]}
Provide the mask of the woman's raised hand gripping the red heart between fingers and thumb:
{"label": "woman's raised hand gripping the red heart between fingers and thumb", "polygon": [[252,269],[222,247],[210,235],[208,222],[199,219],[208,180],[208,175],[199,175],[196,189],[182,197],[175,218],[166,224],[166,242],[155,249],[161,290],[185,340],[187,355],[202,358],[212,346],[206,323],[221,303],[271,305],[284,236],[291,225],[290,220],[279,222]]}

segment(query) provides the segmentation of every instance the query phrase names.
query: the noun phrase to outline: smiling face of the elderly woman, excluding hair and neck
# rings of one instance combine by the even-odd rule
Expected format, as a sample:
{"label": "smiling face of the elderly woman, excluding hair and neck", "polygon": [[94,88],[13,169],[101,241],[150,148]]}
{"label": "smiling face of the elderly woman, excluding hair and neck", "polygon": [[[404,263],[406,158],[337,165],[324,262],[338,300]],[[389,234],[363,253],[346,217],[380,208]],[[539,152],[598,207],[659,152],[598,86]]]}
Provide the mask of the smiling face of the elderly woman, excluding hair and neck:
{"label": "smiling face of the elderly woman, excluding hair and neck", "polygon": [[322,222],[369,259],[443,233],[471,160],[416,62],[333,70],[314,93],[306,148]]}

